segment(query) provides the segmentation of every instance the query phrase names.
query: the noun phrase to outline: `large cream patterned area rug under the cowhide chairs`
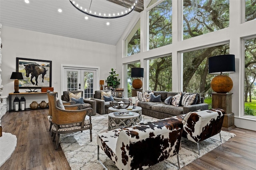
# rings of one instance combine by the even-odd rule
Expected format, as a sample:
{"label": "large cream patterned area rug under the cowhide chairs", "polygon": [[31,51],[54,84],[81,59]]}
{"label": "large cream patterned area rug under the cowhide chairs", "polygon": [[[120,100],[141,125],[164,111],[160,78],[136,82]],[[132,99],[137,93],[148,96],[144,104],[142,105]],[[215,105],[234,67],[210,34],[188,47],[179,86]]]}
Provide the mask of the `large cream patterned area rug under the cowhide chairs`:
{"label": "large cream patterned area rug under the cowhide chairs", "polygon": [[[158,119],[142,115],[142,121],[157,121]],[[92,117],[92,142],[90,142],[89,130],[74,132],[72,134],[60,134],[60,145],[72,170],[103,170],[97,160],[97,134],[108,129],[108,115],[96,115]],[[226,142],[235,134],[221,131],[222,142]],[[200,155],[197,144],[182,138],[182,148],[179,151],[180,168],[200,158],[221,144],[220,135],[200,142]],[[114,163],[100,149],[100,160],[108,170],[118,170]],[[176,170],[178,168],[177,156],[172,156],[148,170]]]}

